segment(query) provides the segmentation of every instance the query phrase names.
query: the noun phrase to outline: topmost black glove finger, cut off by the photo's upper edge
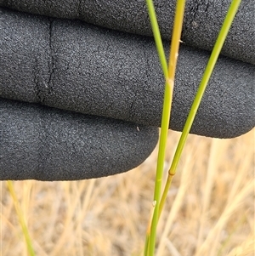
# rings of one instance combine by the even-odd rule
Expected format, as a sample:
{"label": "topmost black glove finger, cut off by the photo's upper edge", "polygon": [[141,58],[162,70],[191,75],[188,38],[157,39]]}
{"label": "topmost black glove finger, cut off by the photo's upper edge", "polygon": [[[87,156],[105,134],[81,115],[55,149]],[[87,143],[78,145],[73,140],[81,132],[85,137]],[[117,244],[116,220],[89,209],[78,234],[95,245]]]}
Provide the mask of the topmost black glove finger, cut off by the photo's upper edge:
{"label": "topmost black glove finger, cut off by the photo's upper edge", "polygon": [[[157,19],[161,35],[169,39],[172,34],[176,1],[156,0]],[[230,1],[187,1],[182,40],[190,46],[212,50],[222,26]],[[3,1],[0,6],[44,14],[48,16],[79,19],[98,26],[119,31],[151,36],[150,20],[145,1],[137,0],[20,0]],[[235,21],[229,31],[222,54],[255,65],[255,4],[242,1]]]}

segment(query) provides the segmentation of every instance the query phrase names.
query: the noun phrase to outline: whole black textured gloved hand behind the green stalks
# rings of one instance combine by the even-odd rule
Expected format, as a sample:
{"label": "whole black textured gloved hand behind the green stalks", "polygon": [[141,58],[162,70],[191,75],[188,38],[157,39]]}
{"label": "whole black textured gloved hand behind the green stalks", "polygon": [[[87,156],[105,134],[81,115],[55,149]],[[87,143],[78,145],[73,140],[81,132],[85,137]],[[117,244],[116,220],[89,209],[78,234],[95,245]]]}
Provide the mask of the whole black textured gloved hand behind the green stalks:
{"label": "whole black textured gloved hand behind the green stalks", "polygon": [[[175,130],[184,126],[229,2],[187,3]],[[167,49],[175,1],[155,5]],[[0,13],[0,88],[9,99],[1,100],[0,179],[88,179],[143,162],[156,145],[156,128],[146,126],[160,125],[164,86],[145,3],[0,6],[8,8]],[[254,12],[253,0],[241,3],[191,133],[231,138],[254,127]]]}

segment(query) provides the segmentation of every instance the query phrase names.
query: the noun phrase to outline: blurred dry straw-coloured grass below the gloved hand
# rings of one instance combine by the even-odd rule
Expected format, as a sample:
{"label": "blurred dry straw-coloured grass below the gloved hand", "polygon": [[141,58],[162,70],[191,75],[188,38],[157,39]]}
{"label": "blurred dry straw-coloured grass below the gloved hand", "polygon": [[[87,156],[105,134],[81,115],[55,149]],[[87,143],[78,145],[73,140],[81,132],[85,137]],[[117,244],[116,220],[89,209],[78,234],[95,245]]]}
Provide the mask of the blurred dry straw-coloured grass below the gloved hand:
{"label": "blurred dry straw-coloured grass below the gloved hand", "polygon": [[[166,168],[179,134],[171,131]],[[190,135],[158,226],[156,256],[254,255],[254,129],[236,139]],[[14,182],[37,255],[142,255],[156,154],[126,174]],[[2,255],[27,255],[1,184]]]}

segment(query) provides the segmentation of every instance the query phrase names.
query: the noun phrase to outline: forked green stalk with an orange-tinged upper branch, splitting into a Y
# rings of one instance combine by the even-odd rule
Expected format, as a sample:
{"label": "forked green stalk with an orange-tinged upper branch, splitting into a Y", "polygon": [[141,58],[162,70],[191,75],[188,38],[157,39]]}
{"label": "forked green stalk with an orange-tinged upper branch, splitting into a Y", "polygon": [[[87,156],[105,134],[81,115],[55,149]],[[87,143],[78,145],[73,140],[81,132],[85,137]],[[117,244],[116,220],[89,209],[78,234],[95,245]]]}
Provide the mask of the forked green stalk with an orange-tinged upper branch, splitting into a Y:
{"label": "forked green stalk with an orange-tinged upper branch, splitting into a Y", "polygon": [[[162,109],[162,117],[161,117],[161,135],[159,139],[159,151],[158,151],[158,159],[157,159],[157,166],[156,166],[156,181],[155,181],[155,191],[154,191],[154,213],[150,228],[150,233],[148,234],[148,238],[146,236],[144,255],[152,256],[154,255],[155,251],[155,243],[156,243],[156,226],[158,223],[158,216],[159,216],[159,202],[161,196],[161,181],[162,181],[162,174],[164,168],[164,159],[165,159],[165,151],[167,146],[167,133],[169,128],[169,120],[170,120],[170,113],[171,113],[171,105],[172,105],[172,98],[173,98],[173,84],[174,84],[174,75],[176,69],[176,63],[178,58],[178,47],[180,42],[180,35],[182,31],[182,24],[183,24],[183,17],[184,17],[184,5],[185,0],[178,0],[176,6],[176,14],[174,19],[174,26],[173,26],[173,39],[171,43],[171,51],[170,51],[170,59],[168,65],[168,71],[165,70],[166,67],[166,60],[164,51],[162,48],[160,32],[158,29],[158,25],[156,22],[156,14],[155,9],[153,8],[153,3],[150,0],[147,0],[148,11],[150,15],[150,22],[152,26],[152,30],[154,33],[156,47],[158,49],[158,54],[161,59],[161,65],[166,77],[166,85],[165,85],[165,92],[164,92],[164,101],[163,101],[163,109]],[[148,250],[149,247],[149,250]]]}

